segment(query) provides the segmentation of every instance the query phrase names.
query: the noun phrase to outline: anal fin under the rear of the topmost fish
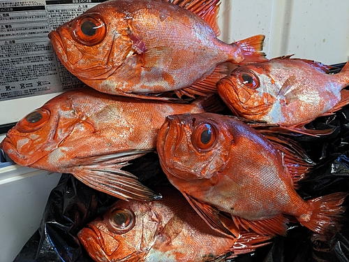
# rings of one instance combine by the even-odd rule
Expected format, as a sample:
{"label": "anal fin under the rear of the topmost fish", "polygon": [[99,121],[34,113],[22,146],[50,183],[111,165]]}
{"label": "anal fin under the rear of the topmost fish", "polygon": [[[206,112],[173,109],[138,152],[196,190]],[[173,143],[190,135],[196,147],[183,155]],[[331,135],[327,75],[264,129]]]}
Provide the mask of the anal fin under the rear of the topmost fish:
{"label": "anal fin under the rear of the topmost fish", "polygon": [[182,89],[174,91],[178,97],[183,95],[194,97],[195,95],[205,96],[208,93],[216,93],[217,87],[216,83],[221,78],[224,78],[228,74],[228,68],[225,65],[218,65],[212,73],[207,75],[200,82],[195,82],[189,87],[184,87]]}

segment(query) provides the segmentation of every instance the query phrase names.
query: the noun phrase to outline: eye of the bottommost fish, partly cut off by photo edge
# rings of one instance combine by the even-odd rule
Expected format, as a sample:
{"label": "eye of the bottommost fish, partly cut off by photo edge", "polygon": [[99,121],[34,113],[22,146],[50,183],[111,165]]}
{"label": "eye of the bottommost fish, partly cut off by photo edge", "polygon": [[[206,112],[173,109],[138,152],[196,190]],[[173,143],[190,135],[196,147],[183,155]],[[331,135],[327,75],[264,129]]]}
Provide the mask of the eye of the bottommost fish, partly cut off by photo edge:
{"label": "eye of the bottommost fish, partly cut off by photo edge", "polygon": [[113,210],[107,224],[114,233],[126,233],[135,226],[135,214],[127,209]]}

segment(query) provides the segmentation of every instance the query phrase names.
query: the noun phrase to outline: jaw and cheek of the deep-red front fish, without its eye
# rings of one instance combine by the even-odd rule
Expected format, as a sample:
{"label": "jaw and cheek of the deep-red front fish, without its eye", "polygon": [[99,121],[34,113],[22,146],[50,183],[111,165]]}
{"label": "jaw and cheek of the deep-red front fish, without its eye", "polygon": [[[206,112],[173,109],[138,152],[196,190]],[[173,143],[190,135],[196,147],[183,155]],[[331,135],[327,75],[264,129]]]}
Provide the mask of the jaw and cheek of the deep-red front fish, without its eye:
{"label": "jaw and cheek of the deep-red front fish, without its eye", "polygon": [[[174,180],[171,177],[185,181],[209,179],[225,165],[228,153],[220,150],[219,143],[206,154],[202,154],[192,145],[192,122],[198,116],[188,113],[168,116],[158,133],[157,150],[160,163],[172,182]],[[202,121],[205,122],[205,119]]]}

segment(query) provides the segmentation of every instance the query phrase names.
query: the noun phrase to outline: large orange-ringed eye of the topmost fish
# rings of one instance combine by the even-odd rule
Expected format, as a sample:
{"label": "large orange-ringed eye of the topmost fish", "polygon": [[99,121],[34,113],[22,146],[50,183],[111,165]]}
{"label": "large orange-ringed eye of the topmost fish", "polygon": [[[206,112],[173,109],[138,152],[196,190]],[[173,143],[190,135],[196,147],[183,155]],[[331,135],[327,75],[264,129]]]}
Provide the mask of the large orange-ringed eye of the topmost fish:
{"label": "large orange-ringed eye of the topmost fish", "polygon": [[72,25],[72,37],[82,45],[96,45],[101,43],[107,32],[103,19],[98,15],[86,15],[78,18]]}

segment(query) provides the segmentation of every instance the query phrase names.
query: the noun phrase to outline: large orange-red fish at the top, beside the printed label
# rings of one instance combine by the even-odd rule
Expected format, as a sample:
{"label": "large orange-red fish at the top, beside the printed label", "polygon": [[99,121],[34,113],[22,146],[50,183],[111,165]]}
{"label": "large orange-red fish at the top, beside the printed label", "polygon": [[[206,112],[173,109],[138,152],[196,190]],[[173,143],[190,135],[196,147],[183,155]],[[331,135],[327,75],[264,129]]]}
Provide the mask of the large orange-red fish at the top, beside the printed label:
{"label": "large orange-red fish at the top, beside the printed label", "polygon": [[[49,37],[64,66],[100,92],[173,91],[200,82],[225,61],[265,60],[260,52],[264,36],[231,45],[216,38],[218,2],[196,0],[186,6],[184,1],[184,8],[159,0],[106,1]],[[211,89],[216,89],[215,82]]]}

